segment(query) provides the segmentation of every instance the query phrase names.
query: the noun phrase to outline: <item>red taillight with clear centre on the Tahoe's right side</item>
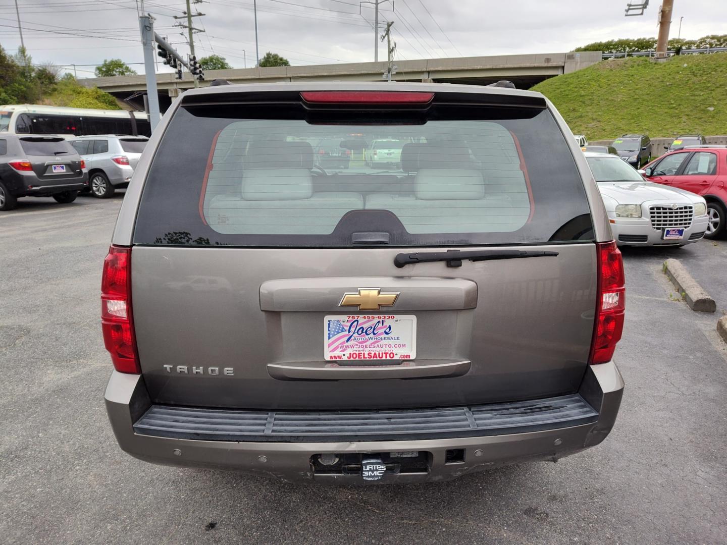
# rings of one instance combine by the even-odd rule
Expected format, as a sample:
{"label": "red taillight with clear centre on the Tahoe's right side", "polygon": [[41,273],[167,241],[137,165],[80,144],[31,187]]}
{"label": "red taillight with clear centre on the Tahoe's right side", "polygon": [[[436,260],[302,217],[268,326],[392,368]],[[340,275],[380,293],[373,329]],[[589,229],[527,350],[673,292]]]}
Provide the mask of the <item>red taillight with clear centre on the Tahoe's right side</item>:
{"label": "red taillight with clear centre on the Tahoe's right side", "polygon": [[596,243],[598,291],[595,324],[588,363],[606,363],[614,357],[624,328],[626,291],[624,263],[615,242]]}

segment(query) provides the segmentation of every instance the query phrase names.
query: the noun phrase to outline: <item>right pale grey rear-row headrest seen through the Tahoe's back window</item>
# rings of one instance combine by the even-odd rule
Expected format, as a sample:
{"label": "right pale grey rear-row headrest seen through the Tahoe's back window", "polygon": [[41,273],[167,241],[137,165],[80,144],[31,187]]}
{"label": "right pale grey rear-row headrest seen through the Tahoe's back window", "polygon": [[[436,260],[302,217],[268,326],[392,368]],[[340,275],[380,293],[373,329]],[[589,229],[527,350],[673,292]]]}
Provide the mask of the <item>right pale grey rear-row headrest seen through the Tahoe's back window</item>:
{"label": "right pale grey rear-row headrest seen through the Tahoe's back window", "polygon": [[485,180],[474,169],[419,169],[414,195],[422,201],[470,201],[484,198]]}

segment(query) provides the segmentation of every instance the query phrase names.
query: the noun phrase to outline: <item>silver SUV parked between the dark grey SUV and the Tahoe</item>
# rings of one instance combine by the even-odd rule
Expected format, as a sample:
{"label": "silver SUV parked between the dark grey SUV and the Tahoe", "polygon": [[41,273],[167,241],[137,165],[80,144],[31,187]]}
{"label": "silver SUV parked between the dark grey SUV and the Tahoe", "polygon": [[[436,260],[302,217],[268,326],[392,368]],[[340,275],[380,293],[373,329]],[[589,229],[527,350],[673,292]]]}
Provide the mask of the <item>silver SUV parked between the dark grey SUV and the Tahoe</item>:
{"label": "silver SUV parked between the dark grey SUV and the Tahoe", "polygon": [[126,187],[134,174],[147,137],[94,134],[70,140],[86,161],[89,190],[94,197],[108,198],[116,187]]}

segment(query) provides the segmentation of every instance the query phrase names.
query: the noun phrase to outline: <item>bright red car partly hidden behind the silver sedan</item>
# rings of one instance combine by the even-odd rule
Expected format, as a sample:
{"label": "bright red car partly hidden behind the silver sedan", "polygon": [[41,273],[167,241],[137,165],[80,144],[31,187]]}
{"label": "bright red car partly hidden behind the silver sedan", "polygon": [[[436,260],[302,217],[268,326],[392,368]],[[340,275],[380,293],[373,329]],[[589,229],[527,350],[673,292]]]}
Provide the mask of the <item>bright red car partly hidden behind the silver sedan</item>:
{"label": "bright red car partly hidden behind the silver sedan", "polygon": [[705,238],[724,235],[727,227],[727,146],[694,146],[665,153],[640,170],[650,182],[679,187],[707,201]]}

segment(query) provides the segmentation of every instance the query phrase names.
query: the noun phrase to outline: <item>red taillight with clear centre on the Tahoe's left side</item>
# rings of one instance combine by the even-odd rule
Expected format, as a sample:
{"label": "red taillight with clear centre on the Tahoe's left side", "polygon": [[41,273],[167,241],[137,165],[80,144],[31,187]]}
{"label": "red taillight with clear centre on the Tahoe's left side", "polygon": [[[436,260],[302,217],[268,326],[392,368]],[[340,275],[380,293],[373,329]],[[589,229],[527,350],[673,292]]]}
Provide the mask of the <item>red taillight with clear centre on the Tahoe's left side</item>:
{"label": "red taillight with clear centre on the Tahoe's left side", "polygon": [[111,246],[103,260],[101,328],[116,371],[140,373],[131,304],[132,249]]}

